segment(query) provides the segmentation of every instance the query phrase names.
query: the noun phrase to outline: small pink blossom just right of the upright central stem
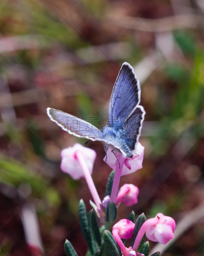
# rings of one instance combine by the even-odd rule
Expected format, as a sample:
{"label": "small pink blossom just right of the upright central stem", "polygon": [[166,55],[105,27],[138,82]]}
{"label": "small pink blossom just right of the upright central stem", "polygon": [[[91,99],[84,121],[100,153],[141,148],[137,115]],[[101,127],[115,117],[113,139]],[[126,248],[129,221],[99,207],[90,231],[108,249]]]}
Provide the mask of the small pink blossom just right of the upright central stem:
{"label": "small pink blossom just right of the upright central stem", "polygon": [[127,206],[137,203],[137,196],[139,194],[139,188],[133,184],[124,184],[116,197],[115,204],[120,201],[124,202]]}

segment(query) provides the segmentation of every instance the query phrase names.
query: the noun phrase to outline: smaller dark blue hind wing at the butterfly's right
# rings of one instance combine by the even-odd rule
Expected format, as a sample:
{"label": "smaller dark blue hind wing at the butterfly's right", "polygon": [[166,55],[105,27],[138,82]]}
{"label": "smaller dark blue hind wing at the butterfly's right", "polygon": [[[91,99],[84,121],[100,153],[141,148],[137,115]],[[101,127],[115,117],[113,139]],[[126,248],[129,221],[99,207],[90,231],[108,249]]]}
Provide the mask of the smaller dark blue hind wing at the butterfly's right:
{"label": "smaller dark blue hind wing at the butterfly's right", "polygon": [[126,143],[131,150],[135,149],[135,144],[139,140],[144,116],[144,108],[140,105],[136,106],[122,125],[126,134]]}

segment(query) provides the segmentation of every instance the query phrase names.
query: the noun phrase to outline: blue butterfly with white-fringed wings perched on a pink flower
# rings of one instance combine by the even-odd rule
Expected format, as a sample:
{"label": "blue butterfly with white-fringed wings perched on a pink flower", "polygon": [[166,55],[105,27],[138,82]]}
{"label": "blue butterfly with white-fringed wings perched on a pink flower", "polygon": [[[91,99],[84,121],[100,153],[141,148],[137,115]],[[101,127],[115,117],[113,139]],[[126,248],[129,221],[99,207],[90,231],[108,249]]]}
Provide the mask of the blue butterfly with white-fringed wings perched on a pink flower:
{"label": "blue butterfly with white-fringed wings perched on a pink flower", "polygon": [[113,150],[119,150],[124,157],[132,158],[145,116],[144,108],[139,105],[140,97],[140,83],[134,69],[128,62],[124,62],[113,87],[108,124],[101,130],[54,108],[47,108],[47,115],[64,131],[80,138],[102,141],[105,150],[106,146],[112,147]]}

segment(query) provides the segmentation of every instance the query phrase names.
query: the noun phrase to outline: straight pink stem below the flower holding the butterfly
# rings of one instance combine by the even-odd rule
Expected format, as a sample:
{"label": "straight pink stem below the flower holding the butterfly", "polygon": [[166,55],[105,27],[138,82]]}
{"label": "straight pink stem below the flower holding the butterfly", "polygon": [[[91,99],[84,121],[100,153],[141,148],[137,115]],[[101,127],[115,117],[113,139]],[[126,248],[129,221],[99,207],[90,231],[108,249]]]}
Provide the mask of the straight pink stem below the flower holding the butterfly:
{"label": "straight pink stem below the flower holding the butterfly", "polygon": [[121,176],[122,167],[123,167],[124,162],[125,162],[125,158],[120,157],[120,168],[119,168],[118,161],[116,164],[115,175],[114,175],[114,179],[113,179],[113,187],[112,187],[112,191],[111,191],[111,201],[112,202],[115,202],[115,200],[116,200],[116,196],[118,193],[118,187],[119,187],[119,183],[120,183],[120,176]]}

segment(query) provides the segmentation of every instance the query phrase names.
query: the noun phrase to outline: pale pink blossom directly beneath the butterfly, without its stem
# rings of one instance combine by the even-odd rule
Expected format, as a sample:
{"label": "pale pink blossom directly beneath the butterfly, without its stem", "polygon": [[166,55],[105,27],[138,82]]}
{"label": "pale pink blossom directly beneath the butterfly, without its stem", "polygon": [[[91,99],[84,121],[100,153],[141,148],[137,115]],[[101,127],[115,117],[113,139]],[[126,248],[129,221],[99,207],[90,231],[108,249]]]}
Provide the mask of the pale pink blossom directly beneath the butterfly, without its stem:
{"label": "pale pink blossom directly beneath the butterfly, without its stem", "polygon": [[[118,157],[117,158],[114,156],[113,152],[111,151],[113,148],[109,147],[106,155],[107,155],[107,159],[106,156],[104,157],[104,161],[113,169],[115,170],[116,165],[118,164],[118,160],[119,163],[123,162],[121,160],[121,158],[124,158],[124,156],[122,156],[122,154],[117,151],[114,150],[115,155]],[[142,161],[143,161],[143,157],[144,157],[144,147],[138,142],[136,145],[135,150],[133,150],[133,158],[125,158],[124,164],[122,166],[122,172],[121,172],[121,176],[123,175],[127,175],[129,173],[135,172],[139,169],[142,168]]]}

